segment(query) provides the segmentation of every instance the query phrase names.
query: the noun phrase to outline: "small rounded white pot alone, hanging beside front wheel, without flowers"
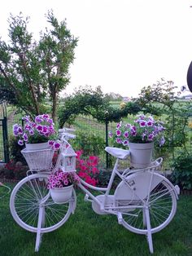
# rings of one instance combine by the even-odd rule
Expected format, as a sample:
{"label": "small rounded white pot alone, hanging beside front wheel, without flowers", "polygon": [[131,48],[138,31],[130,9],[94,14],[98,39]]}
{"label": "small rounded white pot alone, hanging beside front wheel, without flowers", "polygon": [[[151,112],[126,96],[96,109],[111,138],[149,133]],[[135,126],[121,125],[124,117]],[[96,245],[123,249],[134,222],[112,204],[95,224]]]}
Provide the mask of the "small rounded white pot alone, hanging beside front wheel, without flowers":
{"label": "small rounded white pot alone, hanging beside front wheel, without flowers", "polygon": [[66,203],[72,197],[73,185],[64,188],[50,188],[50,196],[57,204]]}

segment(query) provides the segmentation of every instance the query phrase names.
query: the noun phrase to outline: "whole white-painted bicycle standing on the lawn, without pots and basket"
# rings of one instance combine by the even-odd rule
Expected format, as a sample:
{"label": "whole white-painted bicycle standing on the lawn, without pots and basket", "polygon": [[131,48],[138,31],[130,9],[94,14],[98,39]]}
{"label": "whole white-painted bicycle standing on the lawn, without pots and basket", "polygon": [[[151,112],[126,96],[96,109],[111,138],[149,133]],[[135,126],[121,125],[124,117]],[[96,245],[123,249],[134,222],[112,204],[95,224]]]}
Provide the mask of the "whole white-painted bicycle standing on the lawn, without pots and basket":
{"label": "whole white-painted bicycle standing on the lawn, without pots and basket", "polygon": [[[74,137],[66,129],[61,133],[62,145]],[[71,147],[69,143],[68,146]],[[62,146],[59,161],[63,150]],[[116,157],[107,188],[94,187],[82,179],[78,187],[85,192],[85,201],[92,203],[95,213],[115,214],[118,223],[130,232],[146,235],[150,252],[153,253],[152,234],[166,227],[176,214],[179,188],[158,173],[162,158],[153,161],[145,169],[121,171],[119,162],[129,157],[129,150],[107,147],[106,151]],[[76,209],[74,189],[67,202],[57,204],[52,200],[47,183],[48,175],[54,170],[41,170],[36,174],[34,170],[29,170],[28,176],[17,183],[11,193],[10,209],[15,222],[29,232],[37,233],[35,251],[40,247],[41,235],[61,227]],[[116,175],[120,177],[120,183],[111,195]],[[89,189],[101,194],[94,196]]]}

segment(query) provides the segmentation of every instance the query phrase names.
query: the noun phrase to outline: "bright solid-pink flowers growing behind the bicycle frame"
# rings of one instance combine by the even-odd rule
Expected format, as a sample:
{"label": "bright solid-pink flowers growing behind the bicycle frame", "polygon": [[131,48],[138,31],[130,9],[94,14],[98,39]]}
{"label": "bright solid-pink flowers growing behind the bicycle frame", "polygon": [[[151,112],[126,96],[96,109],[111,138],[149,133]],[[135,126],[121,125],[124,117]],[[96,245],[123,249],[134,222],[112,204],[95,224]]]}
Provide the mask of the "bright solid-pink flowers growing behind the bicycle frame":
{"label": "bright solid-pink flowers growing behind the bicycle frame", "polygon": [[76,170],[77,174],[84,179],[86,183],[92,186],[96,186],[98,179],[96,179],[98,170],[98,157],[89,156],[86,159],[82,159],[83,150],[76,151]]}

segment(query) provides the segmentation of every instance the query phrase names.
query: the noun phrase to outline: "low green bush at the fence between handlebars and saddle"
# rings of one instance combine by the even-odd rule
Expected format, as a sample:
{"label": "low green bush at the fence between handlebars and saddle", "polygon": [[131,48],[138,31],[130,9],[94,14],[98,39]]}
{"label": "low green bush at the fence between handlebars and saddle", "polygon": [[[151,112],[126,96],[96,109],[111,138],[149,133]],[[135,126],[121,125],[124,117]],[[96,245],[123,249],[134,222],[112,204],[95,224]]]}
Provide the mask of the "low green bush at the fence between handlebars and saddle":
{"label": "low green bush at the fence between handlebars and saddle", "polygon": [[86,131],[77,131],[76,139],[72,142],[76,150],[83,150],[84,156],[98,156],[105,148],[105,140],[96,134],[89,134]]}

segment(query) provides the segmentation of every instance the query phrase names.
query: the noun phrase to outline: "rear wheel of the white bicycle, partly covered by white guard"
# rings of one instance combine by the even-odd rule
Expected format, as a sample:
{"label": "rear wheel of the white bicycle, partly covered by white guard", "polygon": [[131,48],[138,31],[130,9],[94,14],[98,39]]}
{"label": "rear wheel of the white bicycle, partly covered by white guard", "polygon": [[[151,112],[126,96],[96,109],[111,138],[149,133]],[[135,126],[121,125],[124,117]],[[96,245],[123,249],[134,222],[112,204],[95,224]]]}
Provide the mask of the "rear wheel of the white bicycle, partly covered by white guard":
{"label": "rear wheel of the white bicycle, partly covered by white guard", "polygon": [[[137,174],[139,175],[139,174]],[[137,177],[136,175],[136,177]],[[154,174],[158,175],[158,174]],[[130,175],[131,176],[131,175]],[[133,182],[133,178],[128,178],[129,181]],[[137,179],[135,179],[137,182]],[[126,186],[126,185],[124,185]],[[130,192],[130,189],[128,190]],[[127,204],[133,205],[130,210],[122,211],[122,225],[129,229],[131,232],[138,234],[146,234],[146,212],[145,203],[142,200],[129,201]],[[125,204],[126,201],[123,201]],[[118,201],[120,206],[120,201]],[[135,207],[134,207],[135,205]],[[151,219],[151,233],[159,232],[171,222],[172,218],[176,214],[177,210],[177,198],[175,192],[167,181],[163,178],[150,192],[149,201],[146,204],[149,208],[150,219]],[[137,207],[138,206],[138,207]],[[140,207],[140,208],[139,208]]]}

